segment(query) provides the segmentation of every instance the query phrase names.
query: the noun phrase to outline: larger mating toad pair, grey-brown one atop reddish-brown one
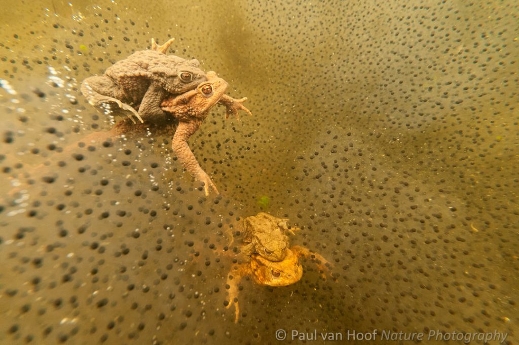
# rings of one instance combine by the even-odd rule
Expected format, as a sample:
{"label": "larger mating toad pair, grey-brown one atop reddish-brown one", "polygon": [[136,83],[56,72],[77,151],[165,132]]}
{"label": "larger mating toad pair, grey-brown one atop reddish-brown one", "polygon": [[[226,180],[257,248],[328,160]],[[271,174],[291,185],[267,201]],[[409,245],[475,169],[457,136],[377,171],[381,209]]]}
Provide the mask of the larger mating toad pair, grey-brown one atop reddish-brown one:
{"label": "larger mating toad pair, grey-brown one atop reddish-brown one", "polygon": [[[226,107],[226,118],[238,110],[249,114],[243,106],[247,98],[234,99],[225,95],[228,84],[215,72],[207,74],[200,70],[196,59],[186,60],[166,55],[173,38],[158,46],[152,38],[152,49],[133,53],[116,62],[101,76],[86,78],[81,92],[94,107],[106,113],[124,113],[136,124],[136,117],[145,126],[170,123],[174,130],[172,147],[184,168],[197,180],[204,183],[206,195],[209,188],[218,190],[211,178],[200,167],[187,140],[206,118],[215,104]],[[119,126],[119,134],[129,134],[142,126]]]}

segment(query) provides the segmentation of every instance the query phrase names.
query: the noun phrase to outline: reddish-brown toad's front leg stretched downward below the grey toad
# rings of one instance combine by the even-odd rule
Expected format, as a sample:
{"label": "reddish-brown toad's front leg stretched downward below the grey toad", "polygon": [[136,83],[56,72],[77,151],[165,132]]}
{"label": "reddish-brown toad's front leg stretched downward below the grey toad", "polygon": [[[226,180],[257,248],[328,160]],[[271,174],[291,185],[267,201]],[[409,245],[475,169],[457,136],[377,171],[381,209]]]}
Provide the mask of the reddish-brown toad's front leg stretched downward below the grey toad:
{"label": "reddish-brown toad's front leg stretched downward below the grey toad", "polygon": [[204,183],[203,188],[206,195],[209,195],[209,188],[214,189],[216,194],[220,194],[209,175],[198,164],[195,155],[187,144],[187,139],[198,130],[201,123],[202,121],[198,119],[179,121],[179,126],[176,128],[175,135],[173,136],[173,151],[189,174]]}

